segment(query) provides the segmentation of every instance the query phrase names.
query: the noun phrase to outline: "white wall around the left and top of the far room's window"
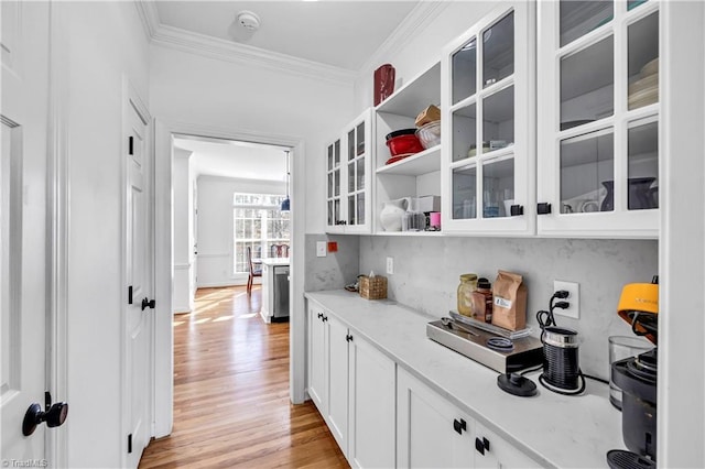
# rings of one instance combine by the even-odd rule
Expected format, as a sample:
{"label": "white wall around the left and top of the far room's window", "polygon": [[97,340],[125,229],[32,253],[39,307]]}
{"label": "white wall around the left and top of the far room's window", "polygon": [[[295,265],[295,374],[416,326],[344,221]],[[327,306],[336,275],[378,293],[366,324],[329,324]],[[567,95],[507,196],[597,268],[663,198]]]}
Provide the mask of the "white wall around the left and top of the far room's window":
{"label": "white wall around the left and top of the far room's window", "polygon": [[247,274],[232,274],[232,194],[284,195],[286,184],[272,181],[200,176],[197,185],[197,285],[198,287],[245,285]]}

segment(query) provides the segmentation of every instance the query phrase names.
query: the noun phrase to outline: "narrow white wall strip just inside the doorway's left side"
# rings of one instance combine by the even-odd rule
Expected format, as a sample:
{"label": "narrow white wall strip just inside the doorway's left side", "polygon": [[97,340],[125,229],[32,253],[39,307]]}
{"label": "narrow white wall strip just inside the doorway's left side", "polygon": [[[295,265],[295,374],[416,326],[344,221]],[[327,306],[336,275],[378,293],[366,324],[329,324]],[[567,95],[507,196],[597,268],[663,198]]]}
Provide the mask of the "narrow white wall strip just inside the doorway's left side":
{"label": "narrow white wall strip just inside the doorway's left side", "polygon": [[192,152],[174,149],[172,181],[174,190],[174,313],[193,310],[191,279],[193,276],[193,190]]}

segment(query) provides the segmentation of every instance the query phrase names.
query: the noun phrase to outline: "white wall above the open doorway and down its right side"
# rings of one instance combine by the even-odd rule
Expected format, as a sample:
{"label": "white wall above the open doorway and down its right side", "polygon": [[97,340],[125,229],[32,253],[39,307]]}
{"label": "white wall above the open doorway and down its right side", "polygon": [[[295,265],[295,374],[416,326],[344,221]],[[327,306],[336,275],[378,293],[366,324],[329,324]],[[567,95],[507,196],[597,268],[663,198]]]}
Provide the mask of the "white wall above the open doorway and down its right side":
{"label": "white wall above the open doorway and down its right side", "polygon": [[[151,80],[151,111],[158,118],[303,139],[306,151],[292,155],[292,173],[306,174],[302,195],[323,207],[325,141],[356,116],[351,85],[158,45],[152,46]],[[305,210],[307,232],[323,231],[323,215]]]}

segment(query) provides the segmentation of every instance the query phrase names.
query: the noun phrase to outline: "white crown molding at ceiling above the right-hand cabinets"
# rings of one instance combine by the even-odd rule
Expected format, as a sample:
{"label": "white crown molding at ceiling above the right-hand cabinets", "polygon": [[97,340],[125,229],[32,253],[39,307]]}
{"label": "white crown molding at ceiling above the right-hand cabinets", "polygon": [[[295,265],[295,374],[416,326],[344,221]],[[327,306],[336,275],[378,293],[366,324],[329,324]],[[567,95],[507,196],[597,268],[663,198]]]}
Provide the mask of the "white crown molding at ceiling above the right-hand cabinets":
{"label": "white crown molding at ceiling above the right-hand cabinets", "polygon": [[419,32],[431,24],[449,4],[451,2],[448,1],[420,1],[360,67],[358,77],[369,75],[370,70],[381,65],[383,57],[399,54]]}

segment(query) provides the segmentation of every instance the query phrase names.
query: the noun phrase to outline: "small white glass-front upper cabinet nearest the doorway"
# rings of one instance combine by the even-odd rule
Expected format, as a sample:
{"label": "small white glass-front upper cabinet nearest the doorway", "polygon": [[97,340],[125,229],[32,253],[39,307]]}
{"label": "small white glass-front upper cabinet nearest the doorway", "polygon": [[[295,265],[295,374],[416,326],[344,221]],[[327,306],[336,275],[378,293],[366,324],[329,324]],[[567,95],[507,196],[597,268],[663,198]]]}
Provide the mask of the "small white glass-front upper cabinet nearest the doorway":
{"label": "small white glass-front upper cabinet nearest the doorway", "polygon": [[326,232],[370,233],[371,110],[326,148]]}

